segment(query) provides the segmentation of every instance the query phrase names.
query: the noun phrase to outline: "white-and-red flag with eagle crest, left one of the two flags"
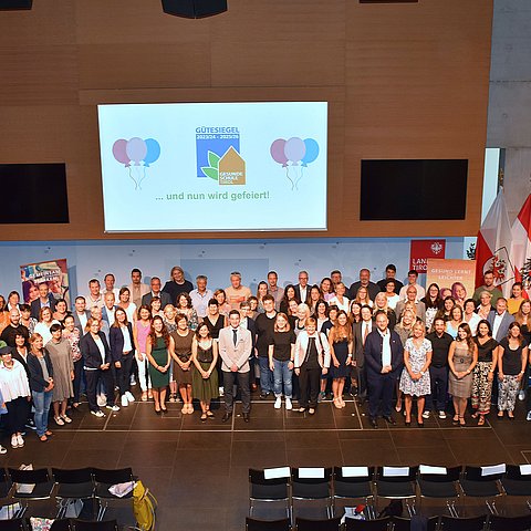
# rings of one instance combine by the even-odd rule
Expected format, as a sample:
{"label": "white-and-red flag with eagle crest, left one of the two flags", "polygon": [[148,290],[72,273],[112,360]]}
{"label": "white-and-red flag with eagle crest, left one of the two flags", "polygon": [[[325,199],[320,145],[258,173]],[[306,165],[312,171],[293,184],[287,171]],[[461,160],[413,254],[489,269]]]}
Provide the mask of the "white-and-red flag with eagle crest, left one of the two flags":
{"label": "white-and-red flag with eagle crest, left one of the two flags", "polygon": [[478,232],[476,288],[482,284],[483,272],[491,270],[494,273],[494,284],[506,295],[510,294],[511,283],[514,280],[514,269],[509,254],[511,241],[509,215],[503,190],[500,189]]}

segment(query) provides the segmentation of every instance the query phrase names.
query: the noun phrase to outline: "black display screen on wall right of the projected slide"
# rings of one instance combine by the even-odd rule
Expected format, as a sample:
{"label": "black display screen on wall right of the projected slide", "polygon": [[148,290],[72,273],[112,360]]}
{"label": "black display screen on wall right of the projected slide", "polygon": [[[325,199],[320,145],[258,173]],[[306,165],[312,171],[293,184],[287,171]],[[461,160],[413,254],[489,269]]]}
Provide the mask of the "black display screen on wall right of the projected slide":
{"label": "black display screen on wall right of the projected slide", "polygon": [[362,160],[360,218],[465,219],[467,159]]}

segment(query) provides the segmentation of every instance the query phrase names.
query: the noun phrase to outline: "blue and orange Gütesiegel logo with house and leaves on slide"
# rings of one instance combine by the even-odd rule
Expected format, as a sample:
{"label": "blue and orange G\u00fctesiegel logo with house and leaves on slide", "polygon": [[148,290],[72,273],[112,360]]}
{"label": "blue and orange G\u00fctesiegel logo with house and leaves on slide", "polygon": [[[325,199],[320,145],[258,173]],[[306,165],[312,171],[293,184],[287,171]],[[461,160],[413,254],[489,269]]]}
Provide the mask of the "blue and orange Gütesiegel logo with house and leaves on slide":
{"label": "blue and orange G\u00fctesiegel logo with house and leaves on slide", "polygon": [[238,127],[197,127],[196,152],[197,177],[208,177],[219,185],[246,184]]}

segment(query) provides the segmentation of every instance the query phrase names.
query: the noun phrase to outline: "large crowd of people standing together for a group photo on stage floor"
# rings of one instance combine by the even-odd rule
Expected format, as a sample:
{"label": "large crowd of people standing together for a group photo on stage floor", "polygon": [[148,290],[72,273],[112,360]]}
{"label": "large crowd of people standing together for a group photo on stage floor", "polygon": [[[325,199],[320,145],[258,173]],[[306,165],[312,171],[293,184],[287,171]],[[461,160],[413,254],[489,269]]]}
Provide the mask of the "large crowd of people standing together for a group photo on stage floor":
{"label": "large crowd of people standing together for a group photo on stage floor", "polygon": [[[436,284],[424,290],[415,271],[406,285],[395,275],[389,264],[376,284],[362,269],[347,289],[337,270],[313,285],[301,271],[298,284],[280,288],[270,271],[253,295],[236,271],[227,289],[211,292],[205,275],[194,289],[179,267],[164,289],[156,277],[142,283],[134,269],[132,283],[119,290],[111,273],[104,290],[92,279],[72,312],[45,282],[31,305],[12,292],[0,299],[0,403],[11,446],[24,445],[27,425],[49,439],[52,404],[54,423],[70,424],[69,407],[79,407],[83,388],[96,417],[105,416],[103,407],[127,407],[134,378],[140,400],[153,399],[156,414],[178,394],[185,415],[197,399],[201,421],[214,418],[211,400],[220,395],[222,421],[230,419],[236,384],[249,421],[258,383],[260,398],[274,395],[274,408],[294,409],[296,397],[298,410],[309,415],[329,388],[336,408],[345,407],[350,391],[362,403],[368,398],[373,427],[379,415],[395,423],[393,405],[410,425],[414,398],[418,426],[434,409],[446,418],[448,395],[456,425],[466,424],[469,399],[479,425],[494,399],[498,416],[513,418],[531,335],[531,303],[521,284],[506,300],[488,271],[472,299],[460,285],[442,298]],[[531,402],[528,410],[531,420]]]}

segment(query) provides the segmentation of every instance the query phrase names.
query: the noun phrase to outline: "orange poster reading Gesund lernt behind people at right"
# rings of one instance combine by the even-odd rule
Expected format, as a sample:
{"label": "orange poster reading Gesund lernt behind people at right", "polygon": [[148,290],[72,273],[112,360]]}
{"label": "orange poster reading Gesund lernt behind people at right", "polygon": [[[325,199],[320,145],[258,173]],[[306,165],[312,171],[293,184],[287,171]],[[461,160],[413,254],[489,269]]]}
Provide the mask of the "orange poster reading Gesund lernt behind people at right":
{"label": "orange poster reading Gesund lernt behind people at right", "polygon": [[475,260],[440,260],[428,258],[426,268],[426,288],[436,283],[440,289],[440,296],[448,295],[458,301],[472,296],[476,280]]}

